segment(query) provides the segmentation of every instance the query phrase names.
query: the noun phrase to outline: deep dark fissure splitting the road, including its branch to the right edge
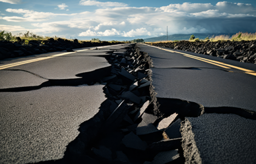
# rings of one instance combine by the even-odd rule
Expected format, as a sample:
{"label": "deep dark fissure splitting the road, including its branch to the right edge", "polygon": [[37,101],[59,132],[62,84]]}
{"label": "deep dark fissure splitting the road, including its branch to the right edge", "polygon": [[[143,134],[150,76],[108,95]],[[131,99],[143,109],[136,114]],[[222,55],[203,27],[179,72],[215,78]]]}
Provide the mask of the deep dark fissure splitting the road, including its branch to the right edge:
{"label": "deep dark fissure splitting the road, including its branch to the right edge", "polygon": [[[192,131],[182,129],[190,126],[184,121],[186,117],[200,117],[205,113],[233,113],[244,118],[256,119],[255,112],[246,109],[210,108],[180,99],[157,98],[151,78],[152,59],[147,53],[139,52],[137,46],[133,45],[133,47],[127,47],[125,53],[113,52],[108,56],[108,62],[111,63],[109,74],[90,83],[105,84],[104,92],[107,100],[101,104],[99,112],[93,118],[80,125],[80,134],[68,144],[64,158],[39,163],[62,164],[87,161],[92,164],[142,164],[145,161],[153,162],[157,160],[157,155],[166,152],[166,155],[173,155],[174,160],[169,163],[181,164],[185,163],[183,154],[187,157],[186,153],[191,151],[195,154],[190,159],[186,158],[186,162],[200,163],[200,153],[196,150]],[[96,72],[90,73],[99,75]],[[81,76],[87,77],[88,74],[82,73]],[[52,80],[54,85],[62,82],[62,80]],[[80,85],[79,82],[72,80],[64,83]],[[134,96],[140,98],[139,103],[134,100]],[[166,128],[154,129],[159,127],[161,121],[172,115],[175,115],[174,119]],[[147,120],[151,122],[146,122]],[[145,132],[147,130],[151,132]],[[173,134],[170,134],[170,131]],[[185,141],[184,138],[189,138],[189,141]],[[137,141],[139,147],[132,144]]]}

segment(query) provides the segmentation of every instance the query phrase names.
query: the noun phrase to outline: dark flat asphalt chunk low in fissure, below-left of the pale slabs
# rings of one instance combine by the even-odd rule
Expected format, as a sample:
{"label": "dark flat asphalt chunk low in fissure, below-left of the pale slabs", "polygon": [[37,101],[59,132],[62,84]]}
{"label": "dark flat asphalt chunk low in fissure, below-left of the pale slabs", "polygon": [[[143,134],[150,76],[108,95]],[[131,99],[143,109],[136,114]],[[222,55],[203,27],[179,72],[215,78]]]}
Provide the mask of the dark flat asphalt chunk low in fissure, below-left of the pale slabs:
{"label": "dark flat asphalt chunk low in fissure, below-left of the pale slabs", "polygon": [[122,142],[126,147],[132,149],[144,151],[147,148],[147,143],[142,141],[137,135],[134,134],[134,132],[130,132],[128,135],[125,135]]}

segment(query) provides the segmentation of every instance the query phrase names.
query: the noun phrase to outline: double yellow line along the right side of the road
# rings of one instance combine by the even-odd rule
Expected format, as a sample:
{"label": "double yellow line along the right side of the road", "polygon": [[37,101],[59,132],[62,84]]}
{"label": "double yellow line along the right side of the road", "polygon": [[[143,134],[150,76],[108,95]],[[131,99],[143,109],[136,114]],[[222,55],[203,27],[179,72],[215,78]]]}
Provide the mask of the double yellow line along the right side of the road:
{"label": "double yellow line along the right side of the road", "polygon": [[[150,46],[150,45],[148,45],[148,46]],[[152,46],[152,47],[155,47],[155,46]],[[228,69],[230,69],[229,67],[234,68],[234,69],[239,69],[241,71],[244,71],[244,73],[256,76],[256,71],[253,71],[253,70],[250,70],[250,69],[245,69],[245,68],[241,68],[239,66],[233,66],[233,65],[222,63],[222,62],[219,62],[219,61],[209,60],[209,59],[206,59],[206,58],[201,58],[201,57],[198,57],[198,56],[189,55],[189,54],[186,54],[186,53],[183,53],[183,52],[172,51],[172,50],[169,50],[169,49],[162,49],[160,47],[155,47],[155,48],[161,49],[161,50],[164,50],[164,51],[168,51],[168,52],[183,54],[186,57],[201,60],[201,61],[204,61],[206,63],[210,63],[210,64],[213,64],[213,65],[216,65],[216,66],[221,66],[223,68],[225,68],[224,66],[227,66]],[[207,62],[207,61],[209,61],[209,62]]]}

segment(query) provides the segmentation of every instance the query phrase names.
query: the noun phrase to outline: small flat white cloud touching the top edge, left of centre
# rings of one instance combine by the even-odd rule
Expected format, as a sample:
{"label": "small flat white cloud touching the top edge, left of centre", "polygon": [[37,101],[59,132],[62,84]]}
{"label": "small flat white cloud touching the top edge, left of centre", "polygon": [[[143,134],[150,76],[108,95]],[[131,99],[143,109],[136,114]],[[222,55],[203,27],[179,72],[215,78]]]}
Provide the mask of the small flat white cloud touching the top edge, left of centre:
{"label": "small flat white cloud touching the top edge, left of centre", "polygon": [[108,7],[128,6],[125,3],[119,3],[119,2],[99,2],[99,1],[96,1],[96,0],[81,0],[79,5],[83,5],[83,6],[108,6]]}

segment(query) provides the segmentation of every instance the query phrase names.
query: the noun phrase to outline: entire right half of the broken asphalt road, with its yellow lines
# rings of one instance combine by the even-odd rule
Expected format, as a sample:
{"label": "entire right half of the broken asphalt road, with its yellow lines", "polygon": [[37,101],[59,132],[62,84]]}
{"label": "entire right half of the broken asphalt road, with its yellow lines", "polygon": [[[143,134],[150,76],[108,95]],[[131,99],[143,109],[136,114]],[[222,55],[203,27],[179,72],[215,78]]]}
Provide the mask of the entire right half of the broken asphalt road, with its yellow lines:
{"label": "entire right half of the broken asphalt road, with its yellow lines", "polygon": [[140,45],[160,112],[182,116],[185,164],[256,163],[256,65],[166,50]]}

